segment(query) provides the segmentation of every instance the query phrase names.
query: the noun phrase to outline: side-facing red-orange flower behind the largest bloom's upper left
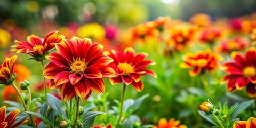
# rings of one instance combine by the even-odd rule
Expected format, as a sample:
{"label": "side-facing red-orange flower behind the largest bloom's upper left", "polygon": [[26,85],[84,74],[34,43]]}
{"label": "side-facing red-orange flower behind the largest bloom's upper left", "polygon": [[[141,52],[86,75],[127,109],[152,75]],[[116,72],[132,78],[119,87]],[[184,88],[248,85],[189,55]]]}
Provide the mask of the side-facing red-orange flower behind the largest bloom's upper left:
{"label": "side-facing red-orange flower behind the largest bloom's upper left", "polygon": [[65,38],[63,35],[58,35],[58,31],[51,31],[46,35],[44,39],[30,35],[27,41],[17,41],[18,45],[12,46],[14,49],[11,51],[17,51],[17,53],[27,53],[30,54],[36,61],[42,61],[48,54],[48,51],[53,49],[56,43],[62,41]]}

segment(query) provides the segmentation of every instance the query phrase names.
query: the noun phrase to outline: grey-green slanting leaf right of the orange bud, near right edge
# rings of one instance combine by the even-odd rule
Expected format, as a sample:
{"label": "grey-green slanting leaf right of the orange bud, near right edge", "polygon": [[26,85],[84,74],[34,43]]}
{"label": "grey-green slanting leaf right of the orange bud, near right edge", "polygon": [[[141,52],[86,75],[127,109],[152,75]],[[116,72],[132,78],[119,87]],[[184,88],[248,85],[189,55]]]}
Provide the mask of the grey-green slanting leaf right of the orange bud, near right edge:
{"label": "grey-green slanting leaf right of the orange bud, near right edge", "polygon": [[234,109],[234,112],[231,114],[230,119],[236,118],[239,115],[239,113],[241,113],[243,110],[251,106],[253,102],[254,100],[252,99],[249,101],[239,103],[239,105]]}

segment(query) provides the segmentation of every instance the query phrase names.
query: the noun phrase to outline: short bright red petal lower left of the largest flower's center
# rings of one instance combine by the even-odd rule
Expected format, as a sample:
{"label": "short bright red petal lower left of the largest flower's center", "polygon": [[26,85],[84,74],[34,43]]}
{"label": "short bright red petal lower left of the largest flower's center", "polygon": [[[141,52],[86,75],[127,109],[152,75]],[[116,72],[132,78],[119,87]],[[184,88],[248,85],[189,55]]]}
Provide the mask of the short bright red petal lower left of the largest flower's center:
{"label": "short bright red petal lower left of the largest flower's center", "polygon": [[69,82],[70,71],[62,71],[54,77],[55,85],[60,85]]}

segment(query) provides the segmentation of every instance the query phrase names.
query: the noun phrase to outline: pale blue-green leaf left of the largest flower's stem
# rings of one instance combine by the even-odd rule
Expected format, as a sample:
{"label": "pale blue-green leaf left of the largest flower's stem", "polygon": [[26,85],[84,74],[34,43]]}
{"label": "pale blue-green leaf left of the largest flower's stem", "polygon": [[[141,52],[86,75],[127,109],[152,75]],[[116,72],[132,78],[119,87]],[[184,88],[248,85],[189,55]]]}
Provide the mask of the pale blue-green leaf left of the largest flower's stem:
{"label": "pale blue-green leaf left of the largest flower's stem", "polygon": [[63,115],[64,110],[62,109],[62,105],[60,100],[54,95],[47,93],[47,101],[49,102],[49,106],[56,111],[60,116]]}

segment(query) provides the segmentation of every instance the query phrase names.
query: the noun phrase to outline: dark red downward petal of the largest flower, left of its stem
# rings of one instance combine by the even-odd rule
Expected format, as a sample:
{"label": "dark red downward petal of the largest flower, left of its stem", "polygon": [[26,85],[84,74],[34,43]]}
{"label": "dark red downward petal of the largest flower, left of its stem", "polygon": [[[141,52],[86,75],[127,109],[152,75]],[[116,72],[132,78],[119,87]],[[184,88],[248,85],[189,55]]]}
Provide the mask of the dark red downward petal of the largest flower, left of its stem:
{"label": "dark red downward petal of the largest flower, left of its stem", "polygon": [[61,98],[67,102],[75,97],[76,92],[74,90],[74,86],[71,83],[64,83],[59,85],[60,86],[60,96]]}

